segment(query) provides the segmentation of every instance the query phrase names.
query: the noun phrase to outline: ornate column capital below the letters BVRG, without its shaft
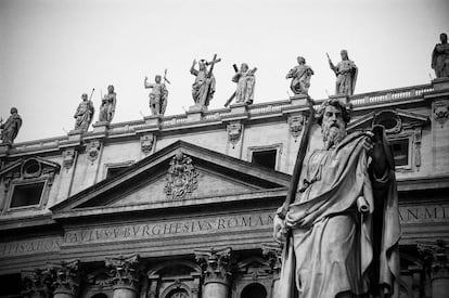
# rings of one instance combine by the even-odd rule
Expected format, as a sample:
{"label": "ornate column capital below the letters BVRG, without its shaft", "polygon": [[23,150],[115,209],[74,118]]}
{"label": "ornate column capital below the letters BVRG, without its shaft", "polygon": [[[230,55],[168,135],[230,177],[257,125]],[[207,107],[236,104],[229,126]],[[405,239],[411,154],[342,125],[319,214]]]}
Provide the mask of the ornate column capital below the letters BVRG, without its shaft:
{"label": "ornate column capital below the letters BVRG, without its shaft", "polygon": [[114,289],[128,288],[137,290],[139,284],[139,255],[106,258],[105,267],[110,269]]}

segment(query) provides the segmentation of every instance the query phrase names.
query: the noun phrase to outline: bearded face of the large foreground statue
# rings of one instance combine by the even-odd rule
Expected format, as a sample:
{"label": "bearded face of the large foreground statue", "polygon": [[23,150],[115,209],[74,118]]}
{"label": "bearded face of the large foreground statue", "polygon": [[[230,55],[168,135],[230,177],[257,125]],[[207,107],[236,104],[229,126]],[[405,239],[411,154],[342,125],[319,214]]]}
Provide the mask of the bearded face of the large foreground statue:
{"label": "bearded face of the large foreground statue", "polygon": [[346,137],[346,124],[338,107],[332,105],[325,107],[321,131],[326,150],[337,145]]}

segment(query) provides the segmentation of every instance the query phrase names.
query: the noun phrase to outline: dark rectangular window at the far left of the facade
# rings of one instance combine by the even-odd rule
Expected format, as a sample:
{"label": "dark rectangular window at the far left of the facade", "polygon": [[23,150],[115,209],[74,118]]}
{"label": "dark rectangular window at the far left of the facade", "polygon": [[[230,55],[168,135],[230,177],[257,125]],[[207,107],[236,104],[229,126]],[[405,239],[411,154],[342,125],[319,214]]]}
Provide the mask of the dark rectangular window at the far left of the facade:
{"label": "dark rectangular window at the far left of the facade", "polygon": [[46,182],[14,186],[10,208],[39,205]]}

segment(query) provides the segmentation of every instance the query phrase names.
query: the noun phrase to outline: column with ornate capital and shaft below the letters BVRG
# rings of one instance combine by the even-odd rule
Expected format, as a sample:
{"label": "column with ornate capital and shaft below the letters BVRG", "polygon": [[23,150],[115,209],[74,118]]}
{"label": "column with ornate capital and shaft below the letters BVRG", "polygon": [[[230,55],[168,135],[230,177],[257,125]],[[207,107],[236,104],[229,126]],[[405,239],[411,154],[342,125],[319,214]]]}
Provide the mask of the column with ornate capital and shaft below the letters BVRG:
{"label": "column with ornate capital and shaft below the letters BVRG", "polygon": [[138,298],[139,255],[106,258],[105,265],[114,274],[113,298]]}

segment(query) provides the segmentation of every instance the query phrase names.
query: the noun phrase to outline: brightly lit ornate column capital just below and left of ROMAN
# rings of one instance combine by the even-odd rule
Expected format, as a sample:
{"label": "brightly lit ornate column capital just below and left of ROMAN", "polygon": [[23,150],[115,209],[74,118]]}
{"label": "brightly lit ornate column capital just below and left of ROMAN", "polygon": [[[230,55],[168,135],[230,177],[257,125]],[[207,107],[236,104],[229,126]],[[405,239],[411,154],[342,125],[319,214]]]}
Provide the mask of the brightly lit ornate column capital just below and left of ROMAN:
{"label": "brightly lit ornate column capital just below and left of ROMAN", "polygon": [[231,277],[231,252],[230,247],[221,249],[196,249],[195,259],[202,267],[205,284],[221,283],[229,285]]}

